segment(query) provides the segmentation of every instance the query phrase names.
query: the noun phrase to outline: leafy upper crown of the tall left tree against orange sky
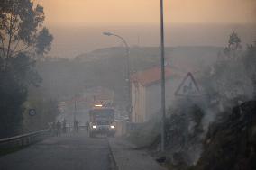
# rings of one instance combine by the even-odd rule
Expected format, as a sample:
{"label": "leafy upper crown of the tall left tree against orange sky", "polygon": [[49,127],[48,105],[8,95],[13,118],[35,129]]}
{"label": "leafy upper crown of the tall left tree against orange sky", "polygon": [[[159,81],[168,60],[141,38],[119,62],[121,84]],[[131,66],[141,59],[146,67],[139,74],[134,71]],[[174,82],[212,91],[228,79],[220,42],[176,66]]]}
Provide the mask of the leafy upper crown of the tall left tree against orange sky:
{"label": "leafy upper crown of the tall left tree against orange sky", "polygon": [[21,52],[31,57],[40,56],[50,50],[53,39],[42,23],[45,19],[43,7],[31,0],[1,0],[0,40],[2,69],[9,65],[9,59]]}

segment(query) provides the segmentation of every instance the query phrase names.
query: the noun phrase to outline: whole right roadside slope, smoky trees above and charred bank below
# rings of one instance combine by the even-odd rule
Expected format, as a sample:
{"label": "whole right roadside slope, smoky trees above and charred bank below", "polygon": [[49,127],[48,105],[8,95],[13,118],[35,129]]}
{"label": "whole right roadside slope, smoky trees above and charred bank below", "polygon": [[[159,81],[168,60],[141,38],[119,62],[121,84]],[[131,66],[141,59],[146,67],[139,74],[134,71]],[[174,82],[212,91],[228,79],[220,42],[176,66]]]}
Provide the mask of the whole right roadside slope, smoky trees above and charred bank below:
{"label": "whole right roadside slope, smoky trees above and charred bank below", "polygon": [[167,112],[164,157],[160,120],[142,124],[128,139],[171,170],[255,169],[255,49],[255,43],[242,49],[233,32],[216,62],[197,74],[203,96],[179,98]]}

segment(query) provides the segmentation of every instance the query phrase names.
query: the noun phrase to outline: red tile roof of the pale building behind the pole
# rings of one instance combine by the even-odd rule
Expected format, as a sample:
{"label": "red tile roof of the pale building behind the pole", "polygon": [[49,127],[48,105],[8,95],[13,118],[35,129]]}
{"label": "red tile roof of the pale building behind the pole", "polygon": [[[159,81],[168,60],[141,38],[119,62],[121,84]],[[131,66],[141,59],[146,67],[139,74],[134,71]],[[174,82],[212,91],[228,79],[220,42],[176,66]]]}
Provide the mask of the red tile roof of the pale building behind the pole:
{"label": "red tile roof of the pale building behind the pole", "polygon": [[[165,68],[165,77],[169,78],[171,71],[169,67]],[[139,71],[131,76],[132,82],[138,82],[143,86],[149,86],[160,82],[160,67],[153,67],[147,70]]]}

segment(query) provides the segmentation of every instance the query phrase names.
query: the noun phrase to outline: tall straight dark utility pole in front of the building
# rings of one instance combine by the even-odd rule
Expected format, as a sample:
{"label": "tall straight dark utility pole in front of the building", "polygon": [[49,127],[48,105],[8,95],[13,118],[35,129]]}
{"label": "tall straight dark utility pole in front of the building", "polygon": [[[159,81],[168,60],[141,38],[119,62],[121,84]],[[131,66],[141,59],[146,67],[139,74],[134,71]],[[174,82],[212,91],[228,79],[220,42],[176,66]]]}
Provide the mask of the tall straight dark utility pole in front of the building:
{"label": "tall straight dark utility pole in front of the building", "polygon": [[164,20],[163,0],[160,0],[160,64],[161,64],[161,151],[165,150],[165,66],[164,66]]}

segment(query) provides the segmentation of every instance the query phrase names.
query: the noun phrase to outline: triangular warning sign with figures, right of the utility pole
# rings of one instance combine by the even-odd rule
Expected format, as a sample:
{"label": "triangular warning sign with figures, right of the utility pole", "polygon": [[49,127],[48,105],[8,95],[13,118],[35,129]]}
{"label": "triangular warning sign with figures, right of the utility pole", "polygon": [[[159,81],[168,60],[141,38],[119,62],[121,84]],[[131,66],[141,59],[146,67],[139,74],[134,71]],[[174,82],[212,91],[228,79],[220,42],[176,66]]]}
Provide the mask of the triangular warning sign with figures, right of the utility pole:
{"label": "triangular warning sign with figures, right of the utility pole", "polygon": [[177,96],[199,96],[200,91],[194,76],[189,72],[175,92]]}

